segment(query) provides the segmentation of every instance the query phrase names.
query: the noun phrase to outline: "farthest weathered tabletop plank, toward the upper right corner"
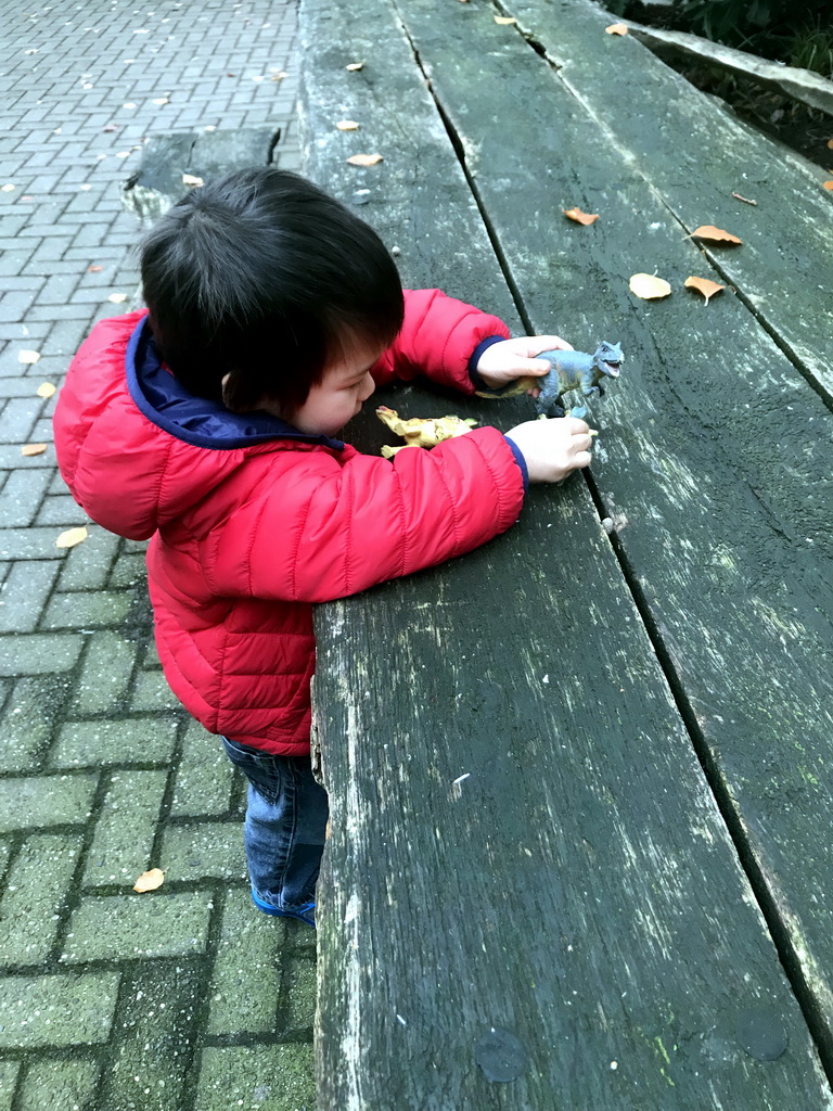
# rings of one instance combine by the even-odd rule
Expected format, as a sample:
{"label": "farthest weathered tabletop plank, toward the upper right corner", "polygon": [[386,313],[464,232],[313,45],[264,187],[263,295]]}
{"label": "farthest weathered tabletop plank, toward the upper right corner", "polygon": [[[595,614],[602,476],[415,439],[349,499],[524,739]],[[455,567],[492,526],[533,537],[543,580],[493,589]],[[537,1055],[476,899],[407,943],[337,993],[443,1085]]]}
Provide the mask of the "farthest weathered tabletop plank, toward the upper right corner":
{"label": "farthest weathered tabletop plank, toward the upper right corner", "polygon": [[610,16],[588,0],[511,0],[506,7],[604,129],[606,183],[630,163],[684,232],[712,223],[739,236],[741,250],[704,251],[833,400],[826,350],[833,197],[822,188],[829,174],[742,124],[633,36],[605,34]]}

